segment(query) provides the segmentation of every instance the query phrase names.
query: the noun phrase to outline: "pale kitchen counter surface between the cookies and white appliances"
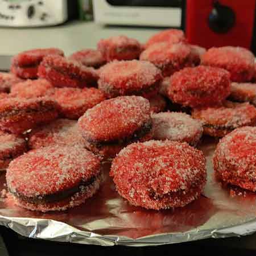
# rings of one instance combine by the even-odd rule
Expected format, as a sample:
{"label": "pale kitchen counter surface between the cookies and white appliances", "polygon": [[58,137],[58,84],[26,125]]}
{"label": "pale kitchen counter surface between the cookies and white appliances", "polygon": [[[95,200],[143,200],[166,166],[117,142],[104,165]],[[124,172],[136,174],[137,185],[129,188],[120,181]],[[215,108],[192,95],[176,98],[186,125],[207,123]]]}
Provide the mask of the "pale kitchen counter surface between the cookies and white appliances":
{"label": "pale kitchen counter surface between the cookies and white appliances", "polygon": [[95,48],[98,40],[114,35],[127,35],[140,42],[159,29],[134,27],[104,27],[93,22],[68,22],[54,27],[6,28],[0,27],[0,55],[14,55],[31,48],[57,47],[65,55],[82,48]]}

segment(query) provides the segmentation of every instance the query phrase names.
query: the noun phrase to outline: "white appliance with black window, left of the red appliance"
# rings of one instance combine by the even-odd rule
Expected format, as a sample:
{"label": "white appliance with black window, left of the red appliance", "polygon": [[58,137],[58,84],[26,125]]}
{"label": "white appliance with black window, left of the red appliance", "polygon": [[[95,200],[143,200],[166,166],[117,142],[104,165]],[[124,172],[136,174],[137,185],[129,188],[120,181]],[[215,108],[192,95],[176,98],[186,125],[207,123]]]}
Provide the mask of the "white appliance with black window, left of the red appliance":
{"label": "white appliance with black window, left of the red appliance", "polygon": [[93,13],[100,24],[181,27],[182,1],[93,0]]}

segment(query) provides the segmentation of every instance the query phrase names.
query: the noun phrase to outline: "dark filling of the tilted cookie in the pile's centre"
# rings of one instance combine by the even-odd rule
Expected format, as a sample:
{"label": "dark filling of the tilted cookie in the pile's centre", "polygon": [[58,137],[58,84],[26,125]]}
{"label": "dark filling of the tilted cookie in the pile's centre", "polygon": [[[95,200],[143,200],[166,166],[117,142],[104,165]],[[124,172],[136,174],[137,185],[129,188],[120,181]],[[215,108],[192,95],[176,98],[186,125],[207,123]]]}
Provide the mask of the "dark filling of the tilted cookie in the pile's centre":
{"label": "dark filling of the tilted cookie in the pile's centre", "polygon": [[88,141],[90,144],[93,144],[93,146],[95,147],[102,147],[102,146],[108,146],[108,145],[113,145],[113,144],[125,144],[128,142],[136,142],[138,141],[140,138],[144,137],[144,135],[148,134],[152,129],[152,122],[146,122],[144,123],[141,127],[139,127],[139,129],[135,130],[134,133],[126,138],[122,138],[122,139],[118,139],[115,141],[93,141],[90,139],[86,139],[86,141]]}

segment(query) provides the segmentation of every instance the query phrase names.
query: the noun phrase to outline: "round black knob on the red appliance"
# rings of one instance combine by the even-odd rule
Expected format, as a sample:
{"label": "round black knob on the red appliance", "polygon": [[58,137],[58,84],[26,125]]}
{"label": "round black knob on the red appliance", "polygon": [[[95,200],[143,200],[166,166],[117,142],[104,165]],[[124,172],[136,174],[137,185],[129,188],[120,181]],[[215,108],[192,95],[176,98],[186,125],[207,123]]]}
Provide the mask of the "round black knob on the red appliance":
{"label": "round black knob on the red appliance", "polygon": [[221,5],[218,1],[214,1],[208,21],[211,30],[220,34],[226,33],[234,26],[236,15],[228,6]]}

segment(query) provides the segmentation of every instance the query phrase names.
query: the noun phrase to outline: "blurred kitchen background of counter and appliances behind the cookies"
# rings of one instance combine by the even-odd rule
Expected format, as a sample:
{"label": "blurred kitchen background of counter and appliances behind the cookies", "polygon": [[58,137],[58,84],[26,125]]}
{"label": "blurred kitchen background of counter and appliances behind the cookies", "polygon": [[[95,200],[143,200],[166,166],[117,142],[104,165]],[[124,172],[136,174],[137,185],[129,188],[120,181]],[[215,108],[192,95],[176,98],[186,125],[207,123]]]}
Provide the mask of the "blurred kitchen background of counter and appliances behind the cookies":
{"label": "blurred kitchen background of counter and appliances behind the cookies", "polygon": [[0,0],[0,54],[55,44],[69,53],[120,33],[143,42],[168,27],[191,44],[255,52],[254,23],[255,0]]}

